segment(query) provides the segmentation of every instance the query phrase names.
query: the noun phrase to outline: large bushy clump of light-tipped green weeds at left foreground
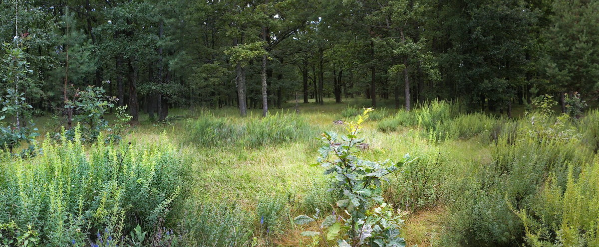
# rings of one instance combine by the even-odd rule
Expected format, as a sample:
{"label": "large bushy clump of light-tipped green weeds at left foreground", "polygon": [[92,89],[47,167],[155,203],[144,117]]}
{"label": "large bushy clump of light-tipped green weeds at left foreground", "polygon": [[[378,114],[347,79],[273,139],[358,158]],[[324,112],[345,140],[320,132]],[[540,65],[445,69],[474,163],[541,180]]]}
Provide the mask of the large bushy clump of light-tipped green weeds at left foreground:
{"label": "large bushy clump of light-tipped green weeds at left foreground", "polygon": [[86,151],[80,135],[46,138],[43,153],[28,160],[0,153],[0,205],[13,205],[0,212],[0,224],[29,225],[43,245],[95,241],[99,231],[120,245],[125,231],[168,216],[183,183],[171,145],[113,147],[99,139]]}

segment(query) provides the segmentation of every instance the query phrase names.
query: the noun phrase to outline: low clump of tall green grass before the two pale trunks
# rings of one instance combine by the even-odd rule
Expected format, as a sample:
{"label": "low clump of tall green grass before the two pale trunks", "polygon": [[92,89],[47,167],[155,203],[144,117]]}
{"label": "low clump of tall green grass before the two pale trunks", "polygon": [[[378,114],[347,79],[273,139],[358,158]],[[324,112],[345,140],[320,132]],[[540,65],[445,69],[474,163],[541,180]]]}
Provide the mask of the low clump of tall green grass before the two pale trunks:
{"label": "low clump of tall green grass before the two pale trunks", "polygon": [[189,141],[205,146],[240,145],[262,147],[305,140],[314,130],[295,114],[275,114],[264,118],[247,117],[240,123],[229,118],[205,115],[188,121],[192,130]]}

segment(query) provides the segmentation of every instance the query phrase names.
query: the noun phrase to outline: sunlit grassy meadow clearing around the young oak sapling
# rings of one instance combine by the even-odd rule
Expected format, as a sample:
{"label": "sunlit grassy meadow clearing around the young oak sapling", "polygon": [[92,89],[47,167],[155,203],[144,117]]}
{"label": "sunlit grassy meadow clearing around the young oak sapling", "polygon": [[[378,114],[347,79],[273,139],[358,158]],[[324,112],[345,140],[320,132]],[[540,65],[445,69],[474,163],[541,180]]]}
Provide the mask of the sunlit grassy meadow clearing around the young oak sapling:
{"label": "sunlit grassy meadow clearing around the young oak sapling", "polygon": [[[181,246],[305,246],[314,239],[299,233],[309,227],[292,224],[292,218],[330,211],[339,198],[327,192],[331,178],[323,168],[308,166],[318,154],[314,138],[323,131],[343,132],[345,126],[333,121],[352,120],[351,112],[367,103],[301,104],[299,114],[290,103],[268,118],[259,117],[260,109],[245,118],[236,108],[173,109],[167,123],[141,118],[122,143],[141,148],[166,141],[186,167],[169,218],[180,222],[176,229],[186,239]],[[534,245],[535,236],[557,241],[543,239],[556,233],[583,239],[577,243],[593,241],[589,234],[574,234],[595,230],[594,224],[578,223],[589,212],[564,218],[566,208],[539,205],[561,205],[581,188],[595,191],[577,182],[580,174],[595,179],[586,174],[599,170],[592,165],[599,136],[595,111],[558,125],[555,117],[533,124],[530,115],[467,114],[448,102],[423,103],[411,112],[380,111],[364,124],[361,136],[369,148],[361,158],[418,157],[383,183],[386,202],[409,212],[402,230],[409,245]],[[7,169],[0,173],[1,181],[9,176]],[[567,188],[573,192],[564,195]],[[596,198],[589,193],[585,196]],[[594,209],[576,202],[570,208]],[[554,218],[545,220],[547,215]],[[568,227],[553,227],[563,222]],[[322,240],[317,245],[332,246]]]}

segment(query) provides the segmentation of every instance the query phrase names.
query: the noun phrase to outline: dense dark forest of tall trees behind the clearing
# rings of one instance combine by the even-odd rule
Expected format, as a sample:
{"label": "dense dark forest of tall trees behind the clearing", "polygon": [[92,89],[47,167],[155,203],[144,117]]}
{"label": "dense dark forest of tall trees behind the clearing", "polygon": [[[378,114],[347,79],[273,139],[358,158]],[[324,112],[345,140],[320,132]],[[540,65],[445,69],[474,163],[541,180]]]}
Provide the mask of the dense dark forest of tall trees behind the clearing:
{"label": "dense dark forest of tall trees behind the clearing", "polygon": [[[0,1],[29,63],[25,98],[60,112],[87,85],[165,120],[178,106],[280,108],[366,97],[459,99],[511,114],[564,93],[593,102],[599,1]],[[8,52],[7,49],[0,53]],[[5,54],[0,54],[4,57]],[[6,68],[3,68],[6,69]],[[3,87],[13,87],[5,85]],[[5,90],[2,90],[3,92]],[[23,121],[24,122],[24,121]]]}

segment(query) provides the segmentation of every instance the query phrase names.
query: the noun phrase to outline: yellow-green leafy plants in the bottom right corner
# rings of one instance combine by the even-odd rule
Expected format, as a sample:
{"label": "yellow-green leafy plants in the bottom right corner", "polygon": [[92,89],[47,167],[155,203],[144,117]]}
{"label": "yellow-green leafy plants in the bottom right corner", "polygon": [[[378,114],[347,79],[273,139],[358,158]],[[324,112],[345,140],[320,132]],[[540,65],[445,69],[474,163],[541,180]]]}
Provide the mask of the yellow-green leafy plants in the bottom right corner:
{"label": "yellow-green leafy plants in the bottom right corner", "polygon": [[528,246],[599,245],[599,164],[586,165],[578,179],[572,168],[565,191],[549,178],[539,204],[518,211]]}

